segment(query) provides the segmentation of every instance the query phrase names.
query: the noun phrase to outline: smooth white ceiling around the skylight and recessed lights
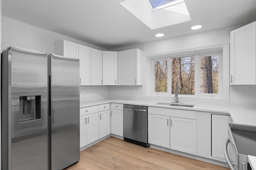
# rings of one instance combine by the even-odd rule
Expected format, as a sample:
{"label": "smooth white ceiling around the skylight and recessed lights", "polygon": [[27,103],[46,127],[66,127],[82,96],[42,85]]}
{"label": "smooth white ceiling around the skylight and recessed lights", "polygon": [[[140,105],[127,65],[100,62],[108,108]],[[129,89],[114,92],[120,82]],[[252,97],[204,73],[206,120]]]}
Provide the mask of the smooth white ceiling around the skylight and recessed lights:
{"label": "smooth white ceiling around the skylight and recessed lights", "polygon": [[[2,0],[2,15],[105,49],[243,25],[256,20],[256,0],[184,0],[191,21],[150,29],[123,0]],[[193,25],[202,25],[191,30]],[[164,33],[164,37],[155,37]],[[209,40],[210,41],[210,40]]]}

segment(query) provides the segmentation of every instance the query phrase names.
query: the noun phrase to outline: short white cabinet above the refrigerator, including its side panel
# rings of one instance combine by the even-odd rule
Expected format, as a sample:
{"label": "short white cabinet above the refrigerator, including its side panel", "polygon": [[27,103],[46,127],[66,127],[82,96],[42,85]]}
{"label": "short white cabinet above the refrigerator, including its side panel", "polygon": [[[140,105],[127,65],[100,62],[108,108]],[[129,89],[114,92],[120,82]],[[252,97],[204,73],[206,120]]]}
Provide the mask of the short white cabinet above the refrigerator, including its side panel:
{"label": "short white cabinet above the refrigerator, including its side panel", "polygon": [[66,40],[57,41],[55,54],[78,59],[78,44]]}

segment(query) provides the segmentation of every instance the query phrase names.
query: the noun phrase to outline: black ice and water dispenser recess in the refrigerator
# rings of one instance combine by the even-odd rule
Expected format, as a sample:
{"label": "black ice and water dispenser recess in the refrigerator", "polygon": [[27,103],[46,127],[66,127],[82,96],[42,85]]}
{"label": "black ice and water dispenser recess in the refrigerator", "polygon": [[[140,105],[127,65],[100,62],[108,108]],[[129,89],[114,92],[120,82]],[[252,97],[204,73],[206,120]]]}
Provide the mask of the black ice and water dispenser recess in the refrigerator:
{"label": "black ice and water dispenser recess in the refrigerator", "polygon": [[41,96],[20,97],[20,122],[41,119]]}

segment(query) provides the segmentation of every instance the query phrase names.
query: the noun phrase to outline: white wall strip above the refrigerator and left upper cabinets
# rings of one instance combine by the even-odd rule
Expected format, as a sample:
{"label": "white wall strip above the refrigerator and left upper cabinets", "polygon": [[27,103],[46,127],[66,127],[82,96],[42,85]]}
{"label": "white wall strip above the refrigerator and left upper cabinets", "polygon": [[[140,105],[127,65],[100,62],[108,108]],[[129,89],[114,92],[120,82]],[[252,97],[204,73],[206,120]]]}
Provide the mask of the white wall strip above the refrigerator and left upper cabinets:
{"label": "white wall strip above the refrigerator and left upper cabinets", "polygon": [[54,42],[62,39],[86,45],[95,49],[106,50],[101,47],[67,37],[65,35],[54,33],[46,29],[35,27],[33,25],[2,16],[2,50],[10,46],[16,46],[54,54]]}

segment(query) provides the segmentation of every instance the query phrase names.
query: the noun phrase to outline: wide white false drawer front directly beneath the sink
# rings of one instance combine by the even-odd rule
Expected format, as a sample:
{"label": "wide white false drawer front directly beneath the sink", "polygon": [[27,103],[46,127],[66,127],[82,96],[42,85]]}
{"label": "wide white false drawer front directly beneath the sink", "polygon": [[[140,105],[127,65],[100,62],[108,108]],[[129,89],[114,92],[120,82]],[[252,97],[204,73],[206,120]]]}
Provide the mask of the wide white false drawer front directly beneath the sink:
{"label": "wide white false drawer front directly beneath the sink", "polygon": [[148,113],[154,115],[164,115],[171,117],[181,117],[186,119],[196,119],[196,111],[182,110],[182,109],[169,109],[162,107],[148,107]]}

